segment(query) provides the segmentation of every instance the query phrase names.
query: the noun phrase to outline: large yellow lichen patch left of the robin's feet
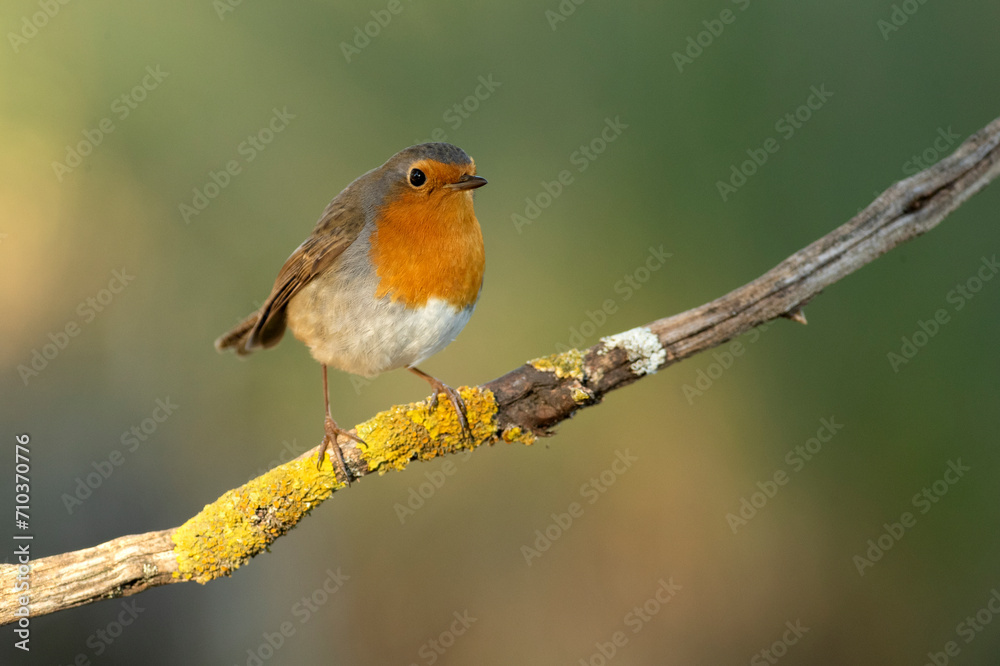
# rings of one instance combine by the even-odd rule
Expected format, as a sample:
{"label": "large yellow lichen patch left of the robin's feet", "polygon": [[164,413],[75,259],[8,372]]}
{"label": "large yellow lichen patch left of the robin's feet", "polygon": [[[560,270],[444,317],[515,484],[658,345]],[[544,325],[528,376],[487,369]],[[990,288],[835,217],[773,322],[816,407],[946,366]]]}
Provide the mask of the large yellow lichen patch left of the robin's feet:
{"label": "large yellow lichen patch left of the robin's feet", "polygon": [[174,532],[174,576],[207,583],[232,574],[342,486],[329,461],[318,470],[308,458],[230,490]]}

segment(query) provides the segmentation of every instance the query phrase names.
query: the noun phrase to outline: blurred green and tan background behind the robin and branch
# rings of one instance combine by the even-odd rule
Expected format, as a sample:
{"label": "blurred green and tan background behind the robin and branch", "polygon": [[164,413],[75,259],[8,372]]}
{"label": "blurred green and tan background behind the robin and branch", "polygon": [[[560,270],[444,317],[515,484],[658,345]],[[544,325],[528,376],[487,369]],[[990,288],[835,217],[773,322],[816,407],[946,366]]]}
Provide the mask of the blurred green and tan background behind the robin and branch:
{"label": "blurred green and tan background behind the robin and branch", "polygon": [[[30,433],[36,556],[179,525],[319,443],[320,372],[303,346],[289,336],[241,362],[212,341],[267,295],[341,188],[435,130],[490,181],[476,194],[479,307],[424,364],[458,385],[575,331],[589,346],[726,293],[913,173],[914,156],[934,161],[1000,115],[989,3],[51,5],[0,10],[3,455]],[[789,136],[779,121],[813,87],[830,96]],[[294,117],[260,149],[244,143],[275,110]],[[581,158],[609,119],[620,133]],[[772,137],[778,151],[723,200],[718,181]],[[239,173],[185,216],[231,160]],[[563,170],[572,182],[516,225]],[[30,655],[5,628],[3,659],[996,663],[1000,280],[949,293],[996,256],[998,203],[987,189],[828,289],[808,327],[745,336],[731,363],[702,354],[553,439],[456,458],[433,493],[441,461],[364,479],[231,579],[133,597],[142,610],[122,631],[120,600],[36,619]],[[637,274],[661,246],[670,258]],[[133,276],[124,289],[115,271]],[[626,276],[647,279],[626,289]],[[608,299],[614,313],[592,319]],[[949,321],[894,369],[887,354],[939,309]],[[37,375],[19,371],[53,339],[65,348]],[[707,389],[685,391],[700,373]],[[427,393],[402,372],[331,380],[345,424]],[[159,423],[158,400],[175,406]],[[822,419],[843,427],[804,464],[789,458],[815,448]],[[67,505],[115,451],[121,465]],[[636,462],[615,475],[619,454]],[[959,460],[969,471],[941,481]],[[583,488],[602,472],[606,492]],[[12,512],[13,480],[0,488]],[[915,505],[924,488],[937,501]],[[734,534],[727,514],[744,499],[763,507]],[[582,515],[526,563],[522,547],[558,533],[552,515],[573,502]],[[884,536],[903,512],[913,526]],[[855,556],[880,536],[891,549],[860,575]],[[320,593],[338,570],[340,588]],[[283,623],[294,633],[279,640]]]}

